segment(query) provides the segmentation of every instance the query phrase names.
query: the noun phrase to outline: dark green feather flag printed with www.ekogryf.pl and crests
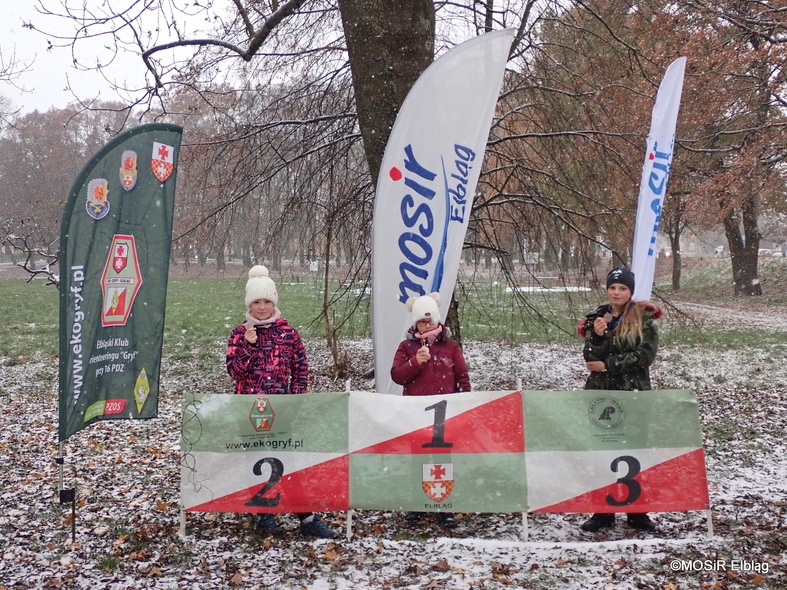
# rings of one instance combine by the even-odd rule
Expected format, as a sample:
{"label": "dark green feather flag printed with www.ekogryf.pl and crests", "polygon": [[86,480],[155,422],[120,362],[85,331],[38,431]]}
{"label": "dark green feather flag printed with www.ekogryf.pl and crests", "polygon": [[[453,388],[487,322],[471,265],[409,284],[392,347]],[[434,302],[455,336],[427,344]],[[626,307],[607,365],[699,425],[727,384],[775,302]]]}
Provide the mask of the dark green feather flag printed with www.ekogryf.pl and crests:
{"label": "dark green feather flag printed with www.ekogryf.pl and crests", "polygon": [[158,414],[182,128],[149,124],[77,177],[60,236],[59,440],[99,420]]}

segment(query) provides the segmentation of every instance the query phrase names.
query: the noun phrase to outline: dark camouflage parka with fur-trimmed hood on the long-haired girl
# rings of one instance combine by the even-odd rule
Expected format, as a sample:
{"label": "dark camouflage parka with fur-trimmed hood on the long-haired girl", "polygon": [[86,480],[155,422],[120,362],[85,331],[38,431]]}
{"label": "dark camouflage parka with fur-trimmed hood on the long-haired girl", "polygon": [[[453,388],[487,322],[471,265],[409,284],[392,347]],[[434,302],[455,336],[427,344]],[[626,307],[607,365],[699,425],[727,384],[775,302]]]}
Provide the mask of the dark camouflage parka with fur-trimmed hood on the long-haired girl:
{"label": "dark camouflage parka with fur-trimmed hood on the long-haired girl", "polygon": [[597,308],[579,322],[577,333],[585,339],[583,356],[585,361],[603,361],[606,371],[592,372],[585,389],[634,391],[651,389],[650,365],[656,359],[659,348],[659,332],[656,320],[663,313],[659,307],[645,301],[629,303],[638,305],[643,311],[642,339],[634,344],[615,337],[614,329],[599,336],[593,330],[597,317],[611,313],[611,305]]}

